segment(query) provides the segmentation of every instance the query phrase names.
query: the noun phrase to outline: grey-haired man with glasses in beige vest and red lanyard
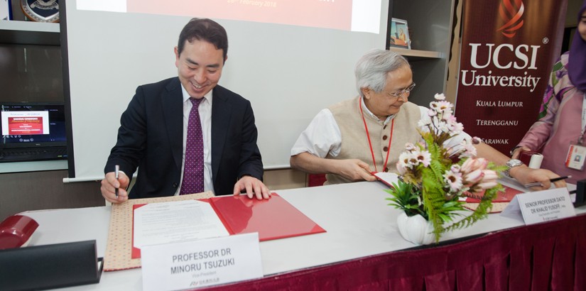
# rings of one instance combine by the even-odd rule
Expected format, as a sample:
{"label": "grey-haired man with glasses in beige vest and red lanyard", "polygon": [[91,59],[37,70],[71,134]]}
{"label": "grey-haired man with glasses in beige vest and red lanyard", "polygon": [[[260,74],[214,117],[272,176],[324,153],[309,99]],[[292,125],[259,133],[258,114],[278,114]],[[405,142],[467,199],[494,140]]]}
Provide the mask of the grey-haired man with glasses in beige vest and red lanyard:
{"label": "grey-haired man with glasses in beige vest and red lanyard", "polygon": [[[407,60],[390,50],[371,50],[357,62],[354,70],[359,97],[323,109],[301,133],[291,149],[291,167],[313,174],[326,173],[325,184],[374,181],[372,172],[397,172],[398,156],[406,143],[421,140],[418,121],[428,109],[408,101],[415,87]],[[470,138],[454,136],[447,147]],[[505,174],[523,184],[541,182],[550,187],[549,170],[533,170],[519,160],[509,160],[484,143],[475,145],[477,156],[496,165],[507,165]],[[555,187],[565,187],[563,180]]]}

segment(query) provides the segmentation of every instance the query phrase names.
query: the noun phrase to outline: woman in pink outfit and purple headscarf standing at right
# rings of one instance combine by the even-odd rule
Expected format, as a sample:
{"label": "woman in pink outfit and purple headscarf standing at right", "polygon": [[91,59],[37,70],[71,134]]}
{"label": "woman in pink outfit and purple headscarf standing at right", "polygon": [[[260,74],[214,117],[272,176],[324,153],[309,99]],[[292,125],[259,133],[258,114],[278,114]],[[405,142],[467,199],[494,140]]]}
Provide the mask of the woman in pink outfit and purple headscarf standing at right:
{"label": "woman in pink outfit and purple headscarf standing at right", "polygon": [[533,123],[514,150],[543,153],[541,168],[558,175],[571,175],[566,182],[586,179],[586,0],[578,13],[578,24],[570,51],[553,65],[546,94]]}

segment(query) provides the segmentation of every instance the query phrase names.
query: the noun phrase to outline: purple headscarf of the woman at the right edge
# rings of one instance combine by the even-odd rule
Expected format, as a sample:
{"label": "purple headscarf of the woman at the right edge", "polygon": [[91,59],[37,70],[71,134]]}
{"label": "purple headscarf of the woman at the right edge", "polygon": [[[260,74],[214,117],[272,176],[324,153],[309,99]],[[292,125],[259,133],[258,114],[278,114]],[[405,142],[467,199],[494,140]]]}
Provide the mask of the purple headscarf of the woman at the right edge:
{"label": "purple headscarf of the woman at the right edge", "polygon": [[[580,8],[580,12],[578,13],[578,23],[580,23],[580,18],[582,18],[582,13],[585,10],[586,0],[582,3],[582,8]],[[568,73],[572,84],[580,89],[580,91],[586,92],[586,40],[582,39],[577,29],[572,40],[572,45],[570,45]]]}

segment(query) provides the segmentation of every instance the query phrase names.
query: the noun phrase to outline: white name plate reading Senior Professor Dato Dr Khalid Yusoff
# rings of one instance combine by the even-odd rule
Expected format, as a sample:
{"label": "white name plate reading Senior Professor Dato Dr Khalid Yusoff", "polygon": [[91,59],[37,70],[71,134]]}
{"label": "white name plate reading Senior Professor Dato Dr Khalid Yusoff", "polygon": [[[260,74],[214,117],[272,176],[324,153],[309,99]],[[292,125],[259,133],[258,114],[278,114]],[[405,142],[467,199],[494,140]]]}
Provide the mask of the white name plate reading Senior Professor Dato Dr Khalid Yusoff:
{"label": "white name plate reading Senior Professor Dato Dr Khalid Yusoff", "polygon": [[501,216],[521,219],[526,225],[576,216],[567,188],[516,194]]}

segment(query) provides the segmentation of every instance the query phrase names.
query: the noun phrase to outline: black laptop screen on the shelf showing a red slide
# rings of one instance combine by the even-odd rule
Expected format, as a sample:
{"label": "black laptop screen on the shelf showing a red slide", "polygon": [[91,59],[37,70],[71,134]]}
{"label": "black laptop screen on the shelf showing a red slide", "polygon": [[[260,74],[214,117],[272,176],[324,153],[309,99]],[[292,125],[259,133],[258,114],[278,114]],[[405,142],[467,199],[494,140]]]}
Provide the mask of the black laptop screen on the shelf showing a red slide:
{"label": "black laptop screen on the shelf showing a red slide", "polygon": [[0,103],[1,148],[67,146],[63,103]]}

